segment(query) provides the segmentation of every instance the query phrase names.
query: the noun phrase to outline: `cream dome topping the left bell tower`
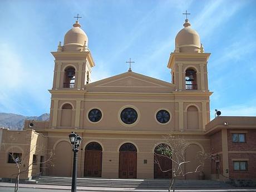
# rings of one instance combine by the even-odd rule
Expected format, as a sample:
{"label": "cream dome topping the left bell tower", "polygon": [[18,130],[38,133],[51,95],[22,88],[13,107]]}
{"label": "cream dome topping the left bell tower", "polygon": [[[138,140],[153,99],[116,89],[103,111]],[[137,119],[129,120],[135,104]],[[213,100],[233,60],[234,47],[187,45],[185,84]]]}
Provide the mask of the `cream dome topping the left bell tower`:
{"label": "cream dome topping the left bell tower", "polygon": [[80,28],[81,25],[76,21],[73,28],[70,29],[64,37],[63,51],[81,51],[83,46],[88,46],[88,37]]}

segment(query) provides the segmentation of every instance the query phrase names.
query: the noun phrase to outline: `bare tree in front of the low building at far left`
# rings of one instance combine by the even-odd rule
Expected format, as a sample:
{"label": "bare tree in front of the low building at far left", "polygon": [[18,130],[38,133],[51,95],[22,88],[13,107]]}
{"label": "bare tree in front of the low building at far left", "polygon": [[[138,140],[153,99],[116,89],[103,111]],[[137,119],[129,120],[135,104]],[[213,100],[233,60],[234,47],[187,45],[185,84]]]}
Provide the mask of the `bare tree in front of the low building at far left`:
{"label": "bare tree in front of the low building at far left", "polygon": [[[32,137],[26,137],[27,142],[30,144],[25,147],[26,150],[17,152],[17,150],[14,150],[16,148],[15,141],[16,138],[13,136],[9,137],[9,144],[4,144],[4,148],[8,147],[8,163],[14,163],[16,168],[16,173],[11,175],[11,179],[15,178],[15,186],[14,186],[14,192],[17,192],[19,189],[19,179],[22,174],[41,174],[40,171],[43,169],[46,169],[47,164],[52,164],[52,157],[53,152],[52,150],[47,151],[45,145],[42,143],[35,142],[35,135],[32,134]],[[11,144],[10,144],[11,143]],[[33,158],[31,161],[31,155],[33,154],[45,154],[47,156],[46,160],[38,162],[38,160]],[[40,170],[38,171],[38,166],[40,165]]]}

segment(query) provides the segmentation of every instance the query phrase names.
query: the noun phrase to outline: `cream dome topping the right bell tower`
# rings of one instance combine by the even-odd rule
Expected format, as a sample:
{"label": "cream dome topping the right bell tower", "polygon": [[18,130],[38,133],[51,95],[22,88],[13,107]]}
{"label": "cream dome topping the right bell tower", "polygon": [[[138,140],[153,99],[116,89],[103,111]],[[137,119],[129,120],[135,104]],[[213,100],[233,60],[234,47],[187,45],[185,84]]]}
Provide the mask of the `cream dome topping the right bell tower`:
{"label": "cream dome topping the right bell tower", "polygon": [[[192,29],[189,20],[186,19],[184,28],[179,31],[175,38],[175,51],[181,53],[200,53],[200,37],[198,32]],[[178,51],[177,51],[178,50]]]}

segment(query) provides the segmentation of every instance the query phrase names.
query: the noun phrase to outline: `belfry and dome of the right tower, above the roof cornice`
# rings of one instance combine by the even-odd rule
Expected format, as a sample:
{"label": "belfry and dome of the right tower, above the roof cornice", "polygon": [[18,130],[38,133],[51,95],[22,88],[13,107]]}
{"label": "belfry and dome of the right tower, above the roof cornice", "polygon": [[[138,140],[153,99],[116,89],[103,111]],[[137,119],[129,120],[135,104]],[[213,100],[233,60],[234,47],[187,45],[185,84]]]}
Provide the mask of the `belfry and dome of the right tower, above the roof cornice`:
{"label": "belfry and dome of the right tower, above the roof cornice", "polygon": [[185,19],[175,38],[175,50],[170,55],[172,83],[178,91],[208,91],[207,62],[210,53],[204,52],[198,33]]}

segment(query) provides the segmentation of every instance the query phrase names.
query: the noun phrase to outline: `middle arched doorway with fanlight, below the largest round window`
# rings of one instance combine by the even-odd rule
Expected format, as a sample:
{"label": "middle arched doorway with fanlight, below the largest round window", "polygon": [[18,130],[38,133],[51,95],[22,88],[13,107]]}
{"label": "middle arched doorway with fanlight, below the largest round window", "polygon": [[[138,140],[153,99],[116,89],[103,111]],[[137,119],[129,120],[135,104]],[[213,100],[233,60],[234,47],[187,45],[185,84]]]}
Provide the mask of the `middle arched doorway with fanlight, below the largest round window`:
{"label": "middle arched doorway with fanlight, below the largest round window", "polygon": [[119,178],[137,178],[137,149],[129,142],[119,149]]}

